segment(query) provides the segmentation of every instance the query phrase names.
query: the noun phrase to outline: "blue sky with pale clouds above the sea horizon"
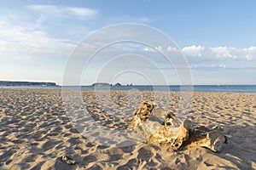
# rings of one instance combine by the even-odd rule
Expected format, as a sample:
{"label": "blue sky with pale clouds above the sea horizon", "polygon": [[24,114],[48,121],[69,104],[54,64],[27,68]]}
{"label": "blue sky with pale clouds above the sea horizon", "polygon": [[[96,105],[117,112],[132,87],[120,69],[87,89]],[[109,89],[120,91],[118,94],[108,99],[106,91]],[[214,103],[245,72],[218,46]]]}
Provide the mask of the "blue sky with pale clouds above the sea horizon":
{"label": "blue sky with pale clouds above the sea horizon", "polygon": [[[86,37],[108,26],[134,23],[157,29],[174,45],[164,48],[148,33],[154,46],[120,42],[102,48],[76,75],[82,85],[181,84],[187,77],[160,53],[170,49],[183,54],[193,84],[256,84],[255,6],[253,0],[1,1],[0,80],[61,85]],[[96,41],[115,36],[107,33]]]}

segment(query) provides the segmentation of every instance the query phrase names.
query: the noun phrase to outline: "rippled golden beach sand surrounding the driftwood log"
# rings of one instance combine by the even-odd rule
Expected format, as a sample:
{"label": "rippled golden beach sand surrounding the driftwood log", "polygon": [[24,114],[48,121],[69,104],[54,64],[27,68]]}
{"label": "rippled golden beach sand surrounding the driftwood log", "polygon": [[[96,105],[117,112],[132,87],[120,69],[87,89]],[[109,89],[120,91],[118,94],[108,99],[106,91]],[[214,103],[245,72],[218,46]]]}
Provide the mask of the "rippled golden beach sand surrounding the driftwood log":
{"label": "rippled golden beach sand surrounding the driftwood log", "polygon": [[[141,139],[111,145],[123,138],[113,139],[108,129],[122,132],[140,101],[155,100],[155,94],[108,93],[83,91],[84,108],[72,108],[85,109],[94,118],[78,117],[86,124],[85,133],[90,131],[83,136],[65,111],[61,90],[0,89],[0,169],[256,169],[256,94],[194,93],[189,119],[195,125],[224,126],[232,136],[221,152],[213,153],[201,147],[173,151]],[[158,95],[159,107],[177,111],[180,93]],[[64,155],[77,163],[67,165],[61,161]]]}

